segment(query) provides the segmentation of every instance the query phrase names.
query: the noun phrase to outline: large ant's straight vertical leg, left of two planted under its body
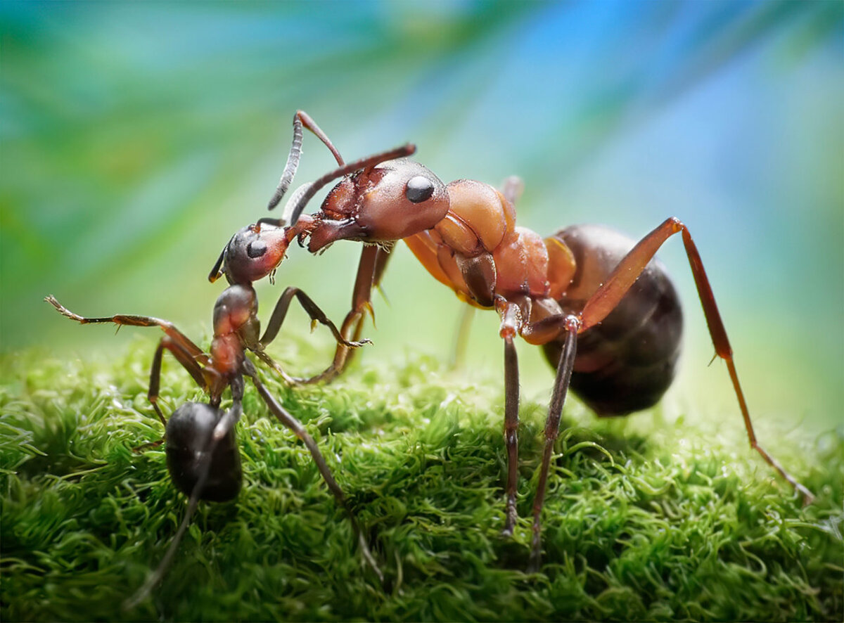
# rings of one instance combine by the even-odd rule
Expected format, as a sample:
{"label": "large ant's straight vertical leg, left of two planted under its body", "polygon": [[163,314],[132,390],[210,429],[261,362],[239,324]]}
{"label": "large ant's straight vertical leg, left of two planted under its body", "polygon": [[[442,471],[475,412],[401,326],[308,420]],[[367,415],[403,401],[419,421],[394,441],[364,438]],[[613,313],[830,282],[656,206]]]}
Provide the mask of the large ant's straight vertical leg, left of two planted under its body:
{"label": "large ant's straight vertical leg, left of two planted under its body", "polygon": [[504,339],[504,443],[507,449],[507,487],[505,490],[505,522],[501,534],[511,536],[516,525],[516,488],[519,478],[519,362],[513,339],[521,323],[521,312],[515,303],[499,298],[495,310],[501,317],[500,336]]}

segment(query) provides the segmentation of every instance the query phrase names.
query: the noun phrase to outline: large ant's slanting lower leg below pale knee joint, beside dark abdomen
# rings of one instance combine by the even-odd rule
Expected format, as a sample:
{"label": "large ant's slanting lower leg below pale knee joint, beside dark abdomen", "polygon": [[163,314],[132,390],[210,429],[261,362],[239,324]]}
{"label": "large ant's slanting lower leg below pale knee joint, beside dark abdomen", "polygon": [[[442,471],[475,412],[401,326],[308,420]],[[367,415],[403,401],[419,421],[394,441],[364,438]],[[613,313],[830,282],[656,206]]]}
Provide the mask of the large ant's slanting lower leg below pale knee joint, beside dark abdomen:
{"label": "large ant's slanting lower leg below pale knee joint, beside dark abdomen", "polygon": [[562,322],[565,328],[565,343],[560,354],[560,363],[557,365],[554,393],[551,394],[551,402],[548,405],[548,418],[545,420],[545,447],[542,454],[542,464],[539,468],[536,496],[533,498],[533,539],[531,541],[530,561],[527,564],[528,573],[537,572],[542,560],[542,541],[539,538],[542,527],[539,518],[545,501],[551,454],[554,451],[557,436],[560,434],[560,415],[562,414],[563,404],[565,404],[565,395],[568,393],[571,370],[575,363],[577,349],[577,328],[580,326],[580,322],[574,316],[567,316],[562,319]]}

